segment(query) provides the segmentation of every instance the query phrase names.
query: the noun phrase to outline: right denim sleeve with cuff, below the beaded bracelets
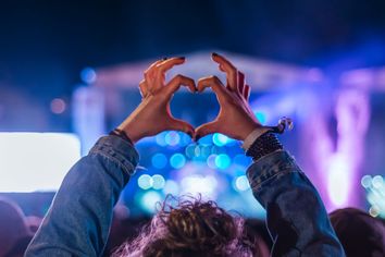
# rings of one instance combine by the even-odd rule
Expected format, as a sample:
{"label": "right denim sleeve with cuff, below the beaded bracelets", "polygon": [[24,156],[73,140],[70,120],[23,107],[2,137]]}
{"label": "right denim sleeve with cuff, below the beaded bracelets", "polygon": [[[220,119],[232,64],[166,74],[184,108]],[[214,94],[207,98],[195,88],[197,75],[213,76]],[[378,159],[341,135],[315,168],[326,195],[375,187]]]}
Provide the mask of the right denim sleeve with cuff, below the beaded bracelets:
{"label": "right denim sleeve with cuff, below the beaded bracelets", "polygon": [[262,157],[247,176],[266,209],[272,256],[345,256],[319,193],[286,151]]}

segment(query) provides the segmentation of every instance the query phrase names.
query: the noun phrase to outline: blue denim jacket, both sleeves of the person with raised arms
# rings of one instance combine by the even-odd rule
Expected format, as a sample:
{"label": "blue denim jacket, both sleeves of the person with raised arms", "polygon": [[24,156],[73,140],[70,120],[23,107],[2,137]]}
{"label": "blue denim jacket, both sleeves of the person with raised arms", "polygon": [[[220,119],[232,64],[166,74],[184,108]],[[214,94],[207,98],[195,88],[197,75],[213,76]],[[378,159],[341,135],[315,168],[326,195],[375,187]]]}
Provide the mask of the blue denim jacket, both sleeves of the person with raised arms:
{"label": "blue denim jacket, both sleeves of the person with raised arms", "polygon": [[[129,143],[100,138],[66,174],[25,256],[101,256],[138,160]],[[273,256],[344,256],[316,189],[286,151],[263,157],[247,175],[268,210]]]}

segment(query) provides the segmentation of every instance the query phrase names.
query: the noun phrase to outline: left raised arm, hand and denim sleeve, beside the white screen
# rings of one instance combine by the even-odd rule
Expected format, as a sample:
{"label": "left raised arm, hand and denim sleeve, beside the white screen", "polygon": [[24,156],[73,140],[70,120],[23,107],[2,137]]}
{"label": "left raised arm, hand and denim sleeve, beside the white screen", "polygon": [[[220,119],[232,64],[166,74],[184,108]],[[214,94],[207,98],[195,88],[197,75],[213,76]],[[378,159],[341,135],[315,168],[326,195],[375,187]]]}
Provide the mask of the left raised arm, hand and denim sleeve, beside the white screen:
{"label": "left raised arm, hand and denim sleeve, beside the white screen", "polygon": [[119,126],[120,131],[100,138],[70,170],[26,256],[102,254],[112,209],[138,163],[134,144],[166,130],[194,134],[191,125],[176,120],[170,112],[173,94],[181,85],[195,91],[194,81],[182,75],[169,83],[164,81],[165,72],[184,61],[184,58],[160,60],[145,72],[145,79],[139,85],[141,103]]}

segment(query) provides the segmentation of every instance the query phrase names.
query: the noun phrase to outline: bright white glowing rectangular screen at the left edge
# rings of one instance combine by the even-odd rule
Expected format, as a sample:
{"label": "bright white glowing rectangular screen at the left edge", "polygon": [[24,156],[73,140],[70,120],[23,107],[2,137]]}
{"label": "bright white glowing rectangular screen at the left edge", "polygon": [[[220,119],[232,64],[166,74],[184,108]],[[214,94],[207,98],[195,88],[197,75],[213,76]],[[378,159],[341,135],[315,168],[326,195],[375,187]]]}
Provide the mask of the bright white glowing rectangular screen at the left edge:
{"label": "bright white glowing rectangular screen at the left edge", "polygon": [[80,158],[65,133],[0,133],[0,192],[57,191]]}

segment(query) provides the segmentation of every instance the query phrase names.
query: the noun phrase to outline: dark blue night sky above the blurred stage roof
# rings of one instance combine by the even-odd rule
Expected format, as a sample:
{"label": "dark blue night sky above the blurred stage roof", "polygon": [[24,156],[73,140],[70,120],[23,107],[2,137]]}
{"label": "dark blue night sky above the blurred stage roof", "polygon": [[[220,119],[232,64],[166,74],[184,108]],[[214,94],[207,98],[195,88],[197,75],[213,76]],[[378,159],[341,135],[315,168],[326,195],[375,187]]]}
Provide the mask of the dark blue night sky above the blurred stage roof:
{"label": "dark blue night sky above the blurred stage roof", "polygon": [[0,85],[70,96],[85,66],[219,49],[341,71],[385,63],[383,0],[0,3]]}

